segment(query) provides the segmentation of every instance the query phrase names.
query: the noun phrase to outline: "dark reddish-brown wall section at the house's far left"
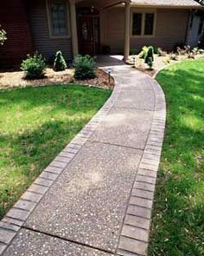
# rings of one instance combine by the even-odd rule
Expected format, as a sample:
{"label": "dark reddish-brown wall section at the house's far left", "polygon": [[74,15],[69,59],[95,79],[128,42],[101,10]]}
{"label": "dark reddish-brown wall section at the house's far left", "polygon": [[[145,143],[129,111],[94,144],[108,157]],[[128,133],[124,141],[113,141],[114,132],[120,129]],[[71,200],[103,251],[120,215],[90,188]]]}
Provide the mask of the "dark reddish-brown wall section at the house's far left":
{"label": "dark reddish-brown wall section at the house's far left", "polygon": [[0,1],[0,24],[8,40],[0,45],[0,67],[19,66],[32,51],[28,13],[25,1]]}

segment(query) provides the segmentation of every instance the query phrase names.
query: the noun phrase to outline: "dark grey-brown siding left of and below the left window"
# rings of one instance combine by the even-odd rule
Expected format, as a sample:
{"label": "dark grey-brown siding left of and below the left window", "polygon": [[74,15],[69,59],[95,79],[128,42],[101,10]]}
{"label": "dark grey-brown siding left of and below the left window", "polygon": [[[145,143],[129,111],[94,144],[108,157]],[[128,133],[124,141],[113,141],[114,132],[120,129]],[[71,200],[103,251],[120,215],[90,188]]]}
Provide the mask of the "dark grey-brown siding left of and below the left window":
{"label": "dark grey-brown siding left of and below the left window", "polygon": [[72,59],[71,38],[50,38],[45,0],[35,0],[29,5],[30,26],[35,50],[51,61],[57,50],[61,50],[67,60]]}

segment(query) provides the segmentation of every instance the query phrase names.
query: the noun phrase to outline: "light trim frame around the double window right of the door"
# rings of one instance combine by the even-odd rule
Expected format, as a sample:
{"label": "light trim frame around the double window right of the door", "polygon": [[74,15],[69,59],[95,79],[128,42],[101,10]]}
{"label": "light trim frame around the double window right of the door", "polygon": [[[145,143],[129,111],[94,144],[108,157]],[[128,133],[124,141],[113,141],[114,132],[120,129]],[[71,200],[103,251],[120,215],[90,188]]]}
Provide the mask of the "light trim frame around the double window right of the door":
{"label": "light trim frame around the double window right of the door", "polygon": [[[142,31],[141,35],[133,35],[132,34],[132,24],[133,24],[133,15],[134,13],[139,13],[142,14]],[[145,30],[145,14],[148,13],[153,13],[154,14],[154,24],[153,24],[153,34],[152,35],[144,35],[144,30]],[[147,38],[152,38],[156,36],[156,9],[131,9],[131,37],[135,38],[142,38],[142,37],[147,37]]]}

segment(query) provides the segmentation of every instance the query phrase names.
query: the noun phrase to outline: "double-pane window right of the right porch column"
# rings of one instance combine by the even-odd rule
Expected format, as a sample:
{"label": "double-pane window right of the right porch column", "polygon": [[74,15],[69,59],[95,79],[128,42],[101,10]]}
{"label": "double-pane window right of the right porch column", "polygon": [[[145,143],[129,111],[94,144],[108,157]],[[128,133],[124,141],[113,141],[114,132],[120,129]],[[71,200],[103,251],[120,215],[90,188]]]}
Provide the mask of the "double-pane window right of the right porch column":
{"label": "double-pane window right of the right porch column", "polygon": [[134,12],[132,14],[132,36],[153,36],[155,20],[155,12]]}

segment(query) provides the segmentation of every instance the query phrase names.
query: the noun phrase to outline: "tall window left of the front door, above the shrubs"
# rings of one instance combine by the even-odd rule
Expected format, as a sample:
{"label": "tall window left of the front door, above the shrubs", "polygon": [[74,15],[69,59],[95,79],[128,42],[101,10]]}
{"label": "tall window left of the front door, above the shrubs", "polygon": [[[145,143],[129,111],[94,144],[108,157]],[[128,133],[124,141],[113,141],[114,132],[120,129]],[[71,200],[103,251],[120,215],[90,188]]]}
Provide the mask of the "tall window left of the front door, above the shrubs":
{"label": "tall window left of the front door, above the shrubs", "polygon": [[48,0],[48,22],[50,36],[68,36],[66,0]]}

